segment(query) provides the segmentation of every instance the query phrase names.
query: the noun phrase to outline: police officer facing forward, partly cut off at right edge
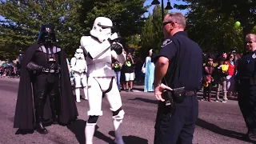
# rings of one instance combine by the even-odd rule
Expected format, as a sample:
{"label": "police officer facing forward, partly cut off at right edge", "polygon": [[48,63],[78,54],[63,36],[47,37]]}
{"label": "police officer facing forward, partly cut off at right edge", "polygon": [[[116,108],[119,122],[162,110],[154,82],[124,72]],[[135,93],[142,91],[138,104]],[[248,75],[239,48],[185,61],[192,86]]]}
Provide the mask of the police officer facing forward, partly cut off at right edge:
{"label": "police officer facing forward, partly cut off at right edge", "polygon": [[247,53],[238,60],[238,104],[248,128],[247,136],[256,139],[256,34],[246,35]]}

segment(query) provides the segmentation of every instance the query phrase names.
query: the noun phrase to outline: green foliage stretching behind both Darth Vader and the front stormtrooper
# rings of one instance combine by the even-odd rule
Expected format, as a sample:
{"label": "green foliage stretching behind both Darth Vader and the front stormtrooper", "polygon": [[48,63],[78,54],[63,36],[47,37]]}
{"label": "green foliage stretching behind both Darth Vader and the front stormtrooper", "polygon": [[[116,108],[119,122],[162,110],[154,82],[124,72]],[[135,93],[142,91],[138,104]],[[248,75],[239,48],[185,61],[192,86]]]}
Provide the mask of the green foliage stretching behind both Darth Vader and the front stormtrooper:
{"label": "green foliage stretching behind both Darth Vader and the front stormtrooper", "polygon": [[123,41],[140,34],[145,0],[6,0],[0,2],[0,58],[15,58],[36,42],[42,24],[55,27],[58,44],[68,57],[89,34],[98,16],[111,18]]}

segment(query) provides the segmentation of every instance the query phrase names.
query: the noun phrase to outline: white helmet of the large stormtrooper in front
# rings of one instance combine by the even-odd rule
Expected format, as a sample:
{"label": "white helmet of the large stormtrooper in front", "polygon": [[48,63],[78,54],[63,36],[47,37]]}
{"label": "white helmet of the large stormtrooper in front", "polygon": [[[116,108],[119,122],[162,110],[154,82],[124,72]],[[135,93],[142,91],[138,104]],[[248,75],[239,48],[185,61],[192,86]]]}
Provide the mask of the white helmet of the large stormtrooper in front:
{"label": "white helmet of the large stormtrooper in front", "polygon": [[110,18],[98,17],[94,21],[94,26],[90,30],[90,35],[98,38],[100,42],[103,42],[111,36],[111,28],[113,26]]}

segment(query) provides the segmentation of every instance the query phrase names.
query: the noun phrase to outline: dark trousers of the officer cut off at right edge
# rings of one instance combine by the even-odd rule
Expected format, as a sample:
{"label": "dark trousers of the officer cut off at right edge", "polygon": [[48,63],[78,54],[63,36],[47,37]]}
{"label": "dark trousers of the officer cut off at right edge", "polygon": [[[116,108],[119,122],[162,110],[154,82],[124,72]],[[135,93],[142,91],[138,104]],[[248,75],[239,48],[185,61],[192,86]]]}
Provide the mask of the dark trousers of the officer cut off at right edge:
{"label": "dark trousers of the officer cut off at right edge", "polygon": [[239,86],[238,104],[248,132],[256,134],[256,86],[250,86],[248,83],[241,83]]}

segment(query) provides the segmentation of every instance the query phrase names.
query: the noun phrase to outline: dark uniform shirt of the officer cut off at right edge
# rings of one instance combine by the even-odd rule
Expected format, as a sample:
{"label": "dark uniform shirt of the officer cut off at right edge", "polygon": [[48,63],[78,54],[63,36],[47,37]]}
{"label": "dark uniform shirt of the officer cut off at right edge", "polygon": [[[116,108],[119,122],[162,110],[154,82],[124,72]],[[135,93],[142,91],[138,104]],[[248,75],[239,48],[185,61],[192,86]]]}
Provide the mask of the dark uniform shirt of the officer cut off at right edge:
{"label": "dark uniform shirt of the officer cut off at right edge", "polygon": [[241,59],[238,60],[238,78],[249,79],[256,74],[256,50],[244,54]]}

